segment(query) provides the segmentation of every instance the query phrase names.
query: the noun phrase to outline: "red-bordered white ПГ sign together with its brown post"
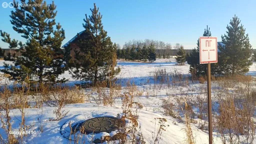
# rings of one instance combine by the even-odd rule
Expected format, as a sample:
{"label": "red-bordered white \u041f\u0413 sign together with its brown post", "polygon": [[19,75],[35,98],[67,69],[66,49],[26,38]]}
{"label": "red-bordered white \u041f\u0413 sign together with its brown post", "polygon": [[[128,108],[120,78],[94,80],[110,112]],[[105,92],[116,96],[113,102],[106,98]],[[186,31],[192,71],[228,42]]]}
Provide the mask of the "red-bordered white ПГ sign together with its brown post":
{"label": "red-bordered white \u041f\u0413 sign together with its brown post", "polygon": [[199,37],[200,64],[207,64],[209,144],[212,144],[211,63],[217,63],[217,37]]}

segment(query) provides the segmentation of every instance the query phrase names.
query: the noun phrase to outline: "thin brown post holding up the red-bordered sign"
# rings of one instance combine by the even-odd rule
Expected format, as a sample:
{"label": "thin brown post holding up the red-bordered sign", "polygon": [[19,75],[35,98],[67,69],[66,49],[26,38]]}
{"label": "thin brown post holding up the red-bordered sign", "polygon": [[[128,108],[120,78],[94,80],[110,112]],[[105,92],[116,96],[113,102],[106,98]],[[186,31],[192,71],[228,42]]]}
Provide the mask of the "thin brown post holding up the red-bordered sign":
{"label": "thin brown post holding up the red-bordered sign", "polygon": [[209,144],[212,144],[212,122],[211,122],[211,64],[207,65],[207,94],[208,94],[208,128]]}

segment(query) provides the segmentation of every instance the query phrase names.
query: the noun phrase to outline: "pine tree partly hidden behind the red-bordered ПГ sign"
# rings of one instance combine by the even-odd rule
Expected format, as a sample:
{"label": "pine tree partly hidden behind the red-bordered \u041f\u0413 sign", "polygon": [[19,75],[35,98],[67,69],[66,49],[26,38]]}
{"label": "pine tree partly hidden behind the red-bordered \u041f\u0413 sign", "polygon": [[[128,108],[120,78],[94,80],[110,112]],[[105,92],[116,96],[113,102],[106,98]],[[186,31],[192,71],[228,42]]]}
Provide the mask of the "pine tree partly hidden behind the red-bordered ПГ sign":
{"label": "pine tree partly hidden behind the red-bordered \u041f\u0413 sign", "polygon": [[[211,36],[210,28],[206,27],[204,34],[202,36]],[[219,58],[218,58],[219,59]],[[197,40],[197,49],[194,48],[189,55],[186,55],[186,61],[190,65],[189,71],[192,74],[196,74],[197,76],[205,76],[207,73],[207,65],[199,63],[199,38]],[[217,71],[217,63],[211,64],[211,74],[216,74]]]}

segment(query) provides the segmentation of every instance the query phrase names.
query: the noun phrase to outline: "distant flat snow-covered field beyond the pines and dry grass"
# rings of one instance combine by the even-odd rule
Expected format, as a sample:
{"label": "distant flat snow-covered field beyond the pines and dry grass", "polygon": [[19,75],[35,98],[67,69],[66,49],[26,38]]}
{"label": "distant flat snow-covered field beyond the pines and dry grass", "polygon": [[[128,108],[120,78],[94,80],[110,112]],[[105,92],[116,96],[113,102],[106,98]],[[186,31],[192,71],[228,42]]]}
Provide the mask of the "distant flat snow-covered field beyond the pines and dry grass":
{"label": "distant flat snow-covered field beyond the pines and dry grass", "polygon": [[[0,69],[3,69],[3,63],[13,64],[11,61],[0,60]],[[175,58],[156,59],[153,63],[142,63],[134,61],[118,60],[117,66],[121,67],[121,72],[116,76],[119,79],[130,79],[131,81],[143,81],[146,78],[152,78],[156,69],[166,69],[168,73],[179,73],[189,75],[189,65],[177,65]],[[256,62],[253,62],[247,75],[256,76]],[[68,71],[65,71],[59,78],[68,79],[68,83],[79,83],[71,77]],[[138,82],[137,82],[138,83]]]}

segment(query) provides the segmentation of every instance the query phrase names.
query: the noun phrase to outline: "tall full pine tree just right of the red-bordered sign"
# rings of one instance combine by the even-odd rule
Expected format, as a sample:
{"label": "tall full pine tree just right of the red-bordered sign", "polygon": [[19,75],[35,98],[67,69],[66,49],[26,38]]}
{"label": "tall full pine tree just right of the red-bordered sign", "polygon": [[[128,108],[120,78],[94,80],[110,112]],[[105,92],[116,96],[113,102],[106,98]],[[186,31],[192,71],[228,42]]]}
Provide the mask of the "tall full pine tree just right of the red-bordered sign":
{"label": "tall full pine tree just right of the red-bordered sign", "polygon": [[223,74],[240,74],[249,71],[252,60],[252,46],[249,42],[245,28],[240,25],[241,20],[235,15],[227,26],[227,34],[221,36],[222,43],[219,45],[220,57],[222,58]]}

